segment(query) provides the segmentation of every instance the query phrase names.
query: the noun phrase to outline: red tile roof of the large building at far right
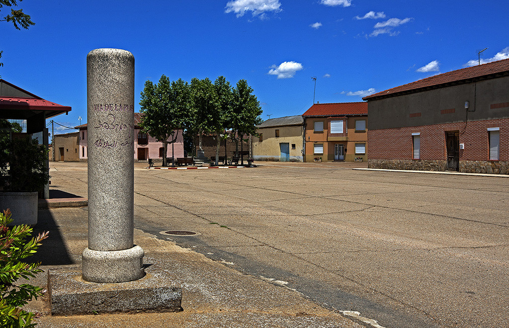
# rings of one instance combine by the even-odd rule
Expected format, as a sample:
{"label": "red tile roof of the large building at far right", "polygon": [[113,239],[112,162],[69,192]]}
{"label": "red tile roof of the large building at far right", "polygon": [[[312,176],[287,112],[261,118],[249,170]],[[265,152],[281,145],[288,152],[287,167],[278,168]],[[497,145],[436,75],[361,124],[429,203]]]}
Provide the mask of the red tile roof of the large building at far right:
{"label": "red tile roof of the large building at far right", "polygon": [[461,70],[451,71],[443,74],[431,76],[412,83],[393,87],[370,96],[362,98],[363,100],[374,100],[377,98],[386,98],[396,96],[401,93],[416,93],[430,88],[439,88],[449,83],[461,84],[468,83],[470,79],[488,77],[493,74],[509,75],[509,59],[491,62],[483,65],[463,68]]}

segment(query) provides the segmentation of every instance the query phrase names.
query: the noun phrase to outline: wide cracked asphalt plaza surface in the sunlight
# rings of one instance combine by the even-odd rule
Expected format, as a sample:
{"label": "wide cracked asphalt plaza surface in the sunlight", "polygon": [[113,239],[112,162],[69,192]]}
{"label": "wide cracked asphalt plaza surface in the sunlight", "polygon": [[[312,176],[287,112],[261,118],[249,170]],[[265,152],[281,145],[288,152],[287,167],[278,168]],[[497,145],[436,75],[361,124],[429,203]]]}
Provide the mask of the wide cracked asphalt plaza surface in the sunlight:
{"label": "wide cracked asphalt plaza surface in the sunlight", "polygon": [[[382,326],[505,324],[506,177],[257,164],[147,170],[136,163],[136,228]],[[52,188],[87,196],[85,163],[50,166]]]}

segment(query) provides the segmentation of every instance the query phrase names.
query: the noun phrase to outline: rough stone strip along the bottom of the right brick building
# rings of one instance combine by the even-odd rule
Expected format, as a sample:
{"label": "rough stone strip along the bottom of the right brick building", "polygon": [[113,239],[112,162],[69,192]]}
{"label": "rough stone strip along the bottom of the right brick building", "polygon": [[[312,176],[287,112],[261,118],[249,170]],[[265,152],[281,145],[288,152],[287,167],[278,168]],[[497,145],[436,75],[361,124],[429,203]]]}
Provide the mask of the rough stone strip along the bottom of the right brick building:
{"label": "rough stone strip along the bottom of the right brick building", "polygon": [[[368,168],[446,171],[445,160],[368,160]],[[460,161],[460,172],[509,174],[509,161]]]}

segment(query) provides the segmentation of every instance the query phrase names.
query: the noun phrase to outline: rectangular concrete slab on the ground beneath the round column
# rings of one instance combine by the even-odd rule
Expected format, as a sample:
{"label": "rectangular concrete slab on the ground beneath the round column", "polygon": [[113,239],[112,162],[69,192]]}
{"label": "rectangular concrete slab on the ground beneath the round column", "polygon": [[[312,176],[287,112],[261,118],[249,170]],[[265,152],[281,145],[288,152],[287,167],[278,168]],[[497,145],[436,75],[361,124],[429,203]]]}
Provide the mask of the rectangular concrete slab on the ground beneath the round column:
{"label": "rectangular concrete slab on the ground beneath the round column", "polygon": [[168,280],[153,273],[136,281],[93,283],[82,279],[79,267],[50,269],[51,314],[182,311],[182,288],[166,286]]}

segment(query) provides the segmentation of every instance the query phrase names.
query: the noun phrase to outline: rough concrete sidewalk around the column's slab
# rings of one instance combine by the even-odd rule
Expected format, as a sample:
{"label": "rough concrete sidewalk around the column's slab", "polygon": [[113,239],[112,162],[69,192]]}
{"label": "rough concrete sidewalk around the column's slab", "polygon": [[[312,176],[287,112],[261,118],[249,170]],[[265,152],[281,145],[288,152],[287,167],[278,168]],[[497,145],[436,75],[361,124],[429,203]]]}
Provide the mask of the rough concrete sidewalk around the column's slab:
{"label": "rough concrete sidewalk around the column's slab", "polygon": [[[52,267],[81,265],[87,247],[87,207],[53,208],[39,211],[36,232],[50,237],[33,256],[47,271]],[[348,327],[361,328],[353,320],[308,301],[285,287],[285,282],[264,281],[244,275],[221,262],[176,246],[173,242],[135,230],[135,244],[145,250],[147,275],[162,271],[183,289],[178,313],[99,314],[51,316],[47,297],[29,305],[45,315],[38,327]],[[46,273],[32,283],[46,284]],[[352,314],[355,316],[355,314]],[[377,326],[377,325],[372,325]]]}

